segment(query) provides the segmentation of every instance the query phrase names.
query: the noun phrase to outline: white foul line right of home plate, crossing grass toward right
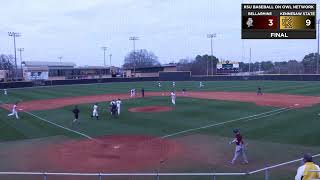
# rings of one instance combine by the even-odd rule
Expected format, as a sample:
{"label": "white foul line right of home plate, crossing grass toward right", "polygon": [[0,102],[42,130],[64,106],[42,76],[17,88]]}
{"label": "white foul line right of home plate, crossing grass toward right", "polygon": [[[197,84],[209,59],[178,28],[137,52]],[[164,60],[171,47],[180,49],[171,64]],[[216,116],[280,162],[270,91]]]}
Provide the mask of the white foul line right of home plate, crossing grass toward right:
{"label": "white foul line right of home plate, crossing grass toward right", "polygon": [[[168,135],[162,136],[160,138],[161,139],[165,139],[165,138],[168,138],[168,137],[176,136],[176,135],[179,135],[179,134],[184,134],[184,133],[187,133],[187,132],[197,131],[197,130],[200,130],[200,129],[207,129],[207,128],[214,127],[214,126],[220,126],[220,125],[223,125],[223,124],[228,124],[228,123],[232,123],[232,122],[236,122],[236,121],[241,121],[243,119],[251,119],[252,117],[256,117],[256,119],[260,119],[260,118],[263,118],[264,116],[262,116],[262,117],[257,117],[257,116],[273,113],[273,114],[269,114],[269,116],[272,116],[272,115],[275,115],[275,114],[279,114],[279,113],[285,112],[287,110],[288,110],[288,108],[280,108],[280,109],[276,109],[276,110],[272,110],[272,111],[268,111],[268,112],[264,112],[264,113],[260,113],[260,114],[254,114],[254,115],[251,115],[251,116],[246,116],[246,117],[237,118],[237,119],[233,119],[233,120],[229,120],[229,121],[224,121],[224,122],[220,122],[220,123],[209,124],[209,125],[198,127],[198,128],[184,130],[184,131],[168,134]],[[276,112],[276,113],[274,113],[274,112]]]}

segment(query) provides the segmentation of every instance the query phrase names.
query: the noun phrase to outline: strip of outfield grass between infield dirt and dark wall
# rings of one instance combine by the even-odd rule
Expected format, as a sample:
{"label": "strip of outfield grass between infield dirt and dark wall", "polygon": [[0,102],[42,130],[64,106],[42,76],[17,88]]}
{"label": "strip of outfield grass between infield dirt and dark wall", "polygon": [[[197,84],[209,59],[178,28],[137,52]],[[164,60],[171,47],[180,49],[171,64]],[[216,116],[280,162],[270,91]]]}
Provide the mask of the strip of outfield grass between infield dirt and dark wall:
{"label": "strip of outfield grass between infield dirt and dark wall", "polygon": [[[105,83],[89,85],[67,85],[54,87],[37,87],[24,89],[9,89],[9,97],[1,97],[4,102],[17,100],[35,100],[70,96],[84,96],[107,93],[129,93],[131,88],[146,91],[172,90],[171,82],[162,82],[162,88],[157,87],[157,82],[132,82],[132,83]],[[199,89],[199,82],[176,82],[176,90],[194,91],[236,91],[255,92],[261,86],[264,92],[282,94],[301,94],[306,96],[320,96],[320,82],[295,82],[295,81],[214,81],[204,82],[205,87]]]}

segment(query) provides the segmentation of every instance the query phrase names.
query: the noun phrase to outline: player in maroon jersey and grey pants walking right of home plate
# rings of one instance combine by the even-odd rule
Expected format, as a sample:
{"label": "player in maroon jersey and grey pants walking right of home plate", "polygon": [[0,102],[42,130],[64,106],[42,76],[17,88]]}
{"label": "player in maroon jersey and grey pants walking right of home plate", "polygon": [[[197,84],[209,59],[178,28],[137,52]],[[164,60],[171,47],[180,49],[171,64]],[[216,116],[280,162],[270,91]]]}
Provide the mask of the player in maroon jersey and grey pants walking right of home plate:
{"label": "player in maroon jersey and grey pants walking right of home plate", "polygon": [[234,157],[230,162],[230,164],[234,164],[239,157],[242,157],[244,164],[248,164],[249,162],[245,153],[245,145],[244,145],[243,137],[240,134],[240,130],[235,129],[233,130],[233,133],[235,134],[235,138],[230,142],[230,144],[236,144],[236,149],[234,152]]}

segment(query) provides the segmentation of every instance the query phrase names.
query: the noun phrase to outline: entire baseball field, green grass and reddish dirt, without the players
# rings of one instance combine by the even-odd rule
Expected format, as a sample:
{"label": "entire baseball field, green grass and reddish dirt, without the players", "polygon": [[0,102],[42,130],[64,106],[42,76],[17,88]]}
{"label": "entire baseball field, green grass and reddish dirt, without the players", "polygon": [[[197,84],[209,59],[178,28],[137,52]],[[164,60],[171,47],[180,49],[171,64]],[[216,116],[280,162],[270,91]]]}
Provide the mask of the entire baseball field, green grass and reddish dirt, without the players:
{"label": "entire baseball field, green grass and reddish dirt, without the players", "polygon": [[[262,96],[257,96],[257,87]],[[137,91],[135,98],[130,98],[132,88]],[[172,90],[176,105],[171,104]],[[113,118],[109,103],[119,98],[121,114]],[[204,82],[203,88],[199,82],[176,82],[175,88],[172,82],[162,82],[161,88],[158,82],[34,87],[8,89],[0,101],[0,171],[235,173],[298,159],[306,152],[320,153],[320,82],[217,81]],[[22,109],[18,120],[7,117],[16,102]],[[99,120],[91,118],[95,103]],[[75,105],[80,118],[73,124]],[[246,165],[229,163],[235,148],[229,141],[236,128],[246,144]],[[270,178],[293,179],[300,164],[272,170]],[[263,179],[263,173],[217,179]]]}

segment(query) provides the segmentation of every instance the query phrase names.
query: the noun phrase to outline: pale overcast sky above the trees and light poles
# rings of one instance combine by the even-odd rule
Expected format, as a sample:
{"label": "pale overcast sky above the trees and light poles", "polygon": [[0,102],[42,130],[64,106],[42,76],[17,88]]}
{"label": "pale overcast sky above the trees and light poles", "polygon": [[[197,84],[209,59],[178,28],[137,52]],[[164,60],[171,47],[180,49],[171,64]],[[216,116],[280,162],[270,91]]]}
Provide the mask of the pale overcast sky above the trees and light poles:
{"label": "pale overcast sky above the trees and light poles", "polygon": [[[101,46],[121,65],[132,50],[153,51],[161,63],[210,53],[228,60],[301,60],[316,40],[241,40],[241,3],[318,3],[318,0],[2,0],[0,53],[13,54],[8,31],[20,32],[24,60],[103,65]],[[109,59],[109,58],[108,58]],[[109,62],[109,61],[108,61]]]}

